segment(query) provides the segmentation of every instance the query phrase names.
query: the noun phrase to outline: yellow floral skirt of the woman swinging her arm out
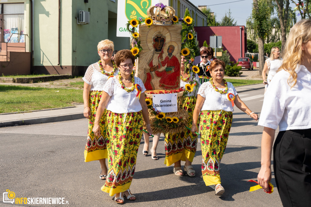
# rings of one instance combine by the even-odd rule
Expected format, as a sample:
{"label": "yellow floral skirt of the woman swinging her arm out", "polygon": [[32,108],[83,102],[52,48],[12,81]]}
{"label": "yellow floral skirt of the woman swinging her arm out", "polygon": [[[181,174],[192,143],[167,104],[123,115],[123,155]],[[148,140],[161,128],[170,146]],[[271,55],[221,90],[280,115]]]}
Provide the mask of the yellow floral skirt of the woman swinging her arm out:
{"label": "yellow floral skirt of the woman swinging her arm out", "polygon": [[202,175],[205,185],[220,183],[219,164],[225,153],[232,123],[232,112],[201,111]]}

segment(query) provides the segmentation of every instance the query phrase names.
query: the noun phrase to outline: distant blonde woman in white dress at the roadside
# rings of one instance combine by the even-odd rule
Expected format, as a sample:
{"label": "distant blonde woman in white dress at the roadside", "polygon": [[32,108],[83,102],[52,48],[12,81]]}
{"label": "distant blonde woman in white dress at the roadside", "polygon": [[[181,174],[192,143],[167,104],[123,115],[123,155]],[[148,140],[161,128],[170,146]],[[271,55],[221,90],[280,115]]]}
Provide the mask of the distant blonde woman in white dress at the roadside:
{"label": "distant blonde woman in white dress at the roadside", "polygon": [[[271,55],[270,58],[268,58],[265,61],[265,65],[263,66],[262,70],[262,79],[263,84],[266,85],[266,88],[268,87],[268,84],[270,83],[273,76],[276,74],[276,71],[281,66],[281,58],[280,58],[280,48],[279,47],[272,47],[271,48]],[[267,70],[269,70],[267,81],[266,81],[266,73]]]}

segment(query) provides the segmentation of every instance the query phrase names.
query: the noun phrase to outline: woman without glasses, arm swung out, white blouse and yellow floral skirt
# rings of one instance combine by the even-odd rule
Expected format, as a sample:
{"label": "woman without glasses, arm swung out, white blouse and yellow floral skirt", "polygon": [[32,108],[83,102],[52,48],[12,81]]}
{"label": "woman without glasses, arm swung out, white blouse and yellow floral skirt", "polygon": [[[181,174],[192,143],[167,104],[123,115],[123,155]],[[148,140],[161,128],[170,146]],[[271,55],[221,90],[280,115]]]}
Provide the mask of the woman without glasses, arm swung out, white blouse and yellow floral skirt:
{"label": "woman without glasses, arm swung out, white blouse and yellow floral skirt", "polygon": [[241,101],[232,83],[223,79],[224,69],[224,61],[214,60],[211,63],[211,79],[199,88],[191,128],[192,133],[198,132],[200,114],[203,180],[215,189],[217,196],[225,192],[220,184],[219,164],[227,145],[234,104],[253,119],[258,119],[257,114]]}

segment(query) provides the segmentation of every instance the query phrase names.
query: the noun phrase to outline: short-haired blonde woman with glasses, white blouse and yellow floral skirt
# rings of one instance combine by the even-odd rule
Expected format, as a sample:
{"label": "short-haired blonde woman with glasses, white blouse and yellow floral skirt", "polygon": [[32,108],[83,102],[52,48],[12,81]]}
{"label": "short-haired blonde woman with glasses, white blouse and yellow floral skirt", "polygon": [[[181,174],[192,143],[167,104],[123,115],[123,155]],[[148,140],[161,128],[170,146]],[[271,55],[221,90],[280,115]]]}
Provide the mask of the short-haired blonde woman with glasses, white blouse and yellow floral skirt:
{"label": "short-haired blonde woman with glasses, white blouse and yellow floral skirt", "polygon": [[95,120],[95,114],[102,96],[104,84],[107,82],[110,75],[117,75],[118,68],[111,60],[112,52],[114,51],[114,43],[108,39],[102,40],[97,45],[98,55],[100,60],[90,65],[84,77],[83,87],[83,102],[84,110],[83,115],[89,119],[89,127],[87,131],[87,141],[84,150],[85,162],[99,160],[100,162],[100,179],[105,180],[107,176],[107,136],[105,129],[107,128],[105,110],[100,119],[101,134],[96,137],[92,132]]}

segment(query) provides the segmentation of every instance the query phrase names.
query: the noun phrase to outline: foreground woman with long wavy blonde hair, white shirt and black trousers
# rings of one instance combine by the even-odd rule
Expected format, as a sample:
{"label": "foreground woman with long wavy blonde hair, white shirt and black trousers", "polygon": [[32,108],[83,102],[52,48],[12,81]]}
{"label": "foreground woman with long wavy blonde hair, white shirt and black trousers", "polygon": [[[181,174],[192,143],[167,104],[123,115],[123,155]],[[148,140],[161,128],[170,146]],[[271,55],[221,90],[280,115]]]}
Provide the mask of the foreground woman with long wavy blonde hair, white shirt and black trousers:
{"label": "foreground woman with long wavy blonde hair, white shirt and black trousers", "polygon": [[297,22],[283,64],[267,89],[258,125],[264,126],[258,183],[269,191],[271,153],[283,206],[311,206],[311,20]]}

